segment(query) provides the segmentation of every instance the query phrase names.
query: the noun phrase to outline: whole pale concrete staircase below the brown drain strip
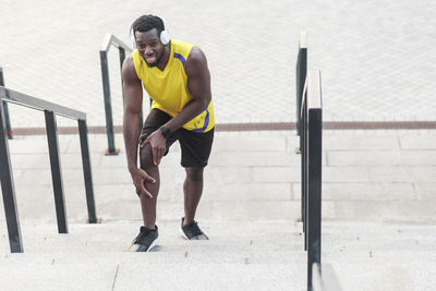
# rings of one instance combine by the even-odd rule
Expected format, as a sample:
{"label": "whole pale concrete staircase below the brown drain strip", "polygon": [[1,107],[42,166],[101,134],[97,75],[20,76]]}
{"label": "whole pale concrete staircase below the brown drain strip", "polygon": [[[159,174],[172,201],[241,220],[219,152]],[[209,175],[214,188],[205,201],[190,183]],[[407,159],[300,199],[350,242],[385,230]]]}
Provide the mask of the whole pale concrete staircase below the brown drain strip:
{"label": "whole pale concrete staircase below the brown drain strip", "polygon": [[[420,157],[423,149],[413,148],[410,137],[370,134],[324,136],[322,263],[332,265],[343,290],[432,290],[433,182],[429,174],[408,175],[404,181],[396,175],[416,170],[404,157]],[[304,237],[296,223],[295,136],[217,133],[197,214],[209,241],[179,235],[184,173],[178,147],[171,148],[161,165],[159,246],[150,253],[125,252],[142,222],[124,151],[106,157],[105,136],[89,135],[97,216],[102,222],[86,225],[78,141],[60,136],[59,143],[68,234],[57,233],[51,183],[45,178],[47,142],[31,136],[10,142],[24,253],[10,254],[1,210],[0,290],[306,289]],[[122,145],[121,136],[117,144]],[[392,159],[395,166],[387,166]],[[414,162],[432,172],[435,167],[427,160],[428,165],[424,159]],[[384,172],[383,181],[373,172]]]}

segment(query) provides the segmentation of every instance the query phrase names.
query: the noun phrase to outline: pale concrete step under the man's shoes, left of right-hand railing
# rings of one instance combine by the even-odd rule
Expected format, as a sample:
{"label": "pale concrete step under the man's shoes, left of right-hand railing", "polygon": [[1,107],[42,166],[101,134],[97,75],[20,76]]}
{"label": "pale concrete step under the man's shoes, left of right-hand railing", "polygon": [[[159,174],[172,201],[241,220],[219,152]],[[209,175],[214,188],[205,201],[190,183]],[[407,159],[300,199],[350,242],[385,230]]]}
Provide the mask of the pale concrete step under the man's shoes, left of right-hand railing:
{"label": "pale concrete step under the man's shoes, left of right-hand railing", "polygon": [[[0,247],[8,252],[9,240],[4,221],[0,226],[3,235]],[[99,225],[74,225],[68,234],[59,234],[56,225],[22,226],[23,245],[26,252],[119,252],[126,250],[137,235],[141,221]],[[181,238],[179,221],[161,221],[159,242],[162,250],[215,248],[234,252],[242,250],[300,250],[302,235],[291,221],[201,221],[209,235],[205,242],[189,242]]]}

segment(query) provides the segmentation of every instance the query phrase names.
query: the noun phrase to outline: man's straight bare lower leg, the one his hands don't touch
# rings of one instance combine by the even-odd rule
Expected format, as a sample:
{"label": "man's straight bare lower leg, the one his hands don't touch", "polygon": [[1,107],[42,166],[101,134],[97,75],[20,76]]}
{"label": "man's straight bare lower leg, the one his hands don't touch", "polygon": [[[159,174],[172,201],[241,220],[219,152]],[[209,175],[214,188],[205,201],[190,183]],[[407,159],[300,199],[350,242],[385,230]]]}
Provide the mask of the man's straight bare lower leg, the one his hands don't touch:
{"label": "man's straight bare lower leg, the one his hands don't touch", "polygon": [[185,168],[186,178],[183,183],[184,192],[184,220],[183,226],[187,226],[194,220],[199,198],[203,193],[203,169]]}

